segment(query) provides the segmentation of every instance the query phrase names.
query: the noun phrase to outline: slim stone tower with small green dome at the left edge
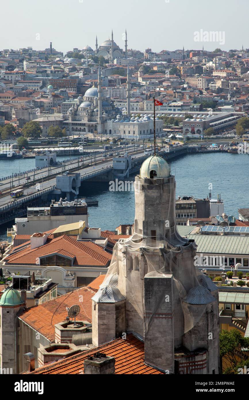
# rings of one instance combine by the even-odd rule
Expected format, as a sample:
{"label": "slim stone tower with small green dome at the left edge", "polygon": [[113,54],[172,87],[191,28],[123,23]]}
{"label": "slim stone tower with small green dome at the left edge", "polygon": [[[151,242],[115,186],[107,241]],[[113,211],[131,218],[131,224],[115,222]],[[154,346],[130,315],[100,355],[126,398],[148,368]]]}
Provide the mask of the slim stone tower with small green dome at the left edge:
{"label": "slim stone tower with small green dome at the left edge", "polygon": [[25,301],[17,290],[7,289],[0,298],[0,373],[16,373],[16,335],[18,311],[23,308]]}

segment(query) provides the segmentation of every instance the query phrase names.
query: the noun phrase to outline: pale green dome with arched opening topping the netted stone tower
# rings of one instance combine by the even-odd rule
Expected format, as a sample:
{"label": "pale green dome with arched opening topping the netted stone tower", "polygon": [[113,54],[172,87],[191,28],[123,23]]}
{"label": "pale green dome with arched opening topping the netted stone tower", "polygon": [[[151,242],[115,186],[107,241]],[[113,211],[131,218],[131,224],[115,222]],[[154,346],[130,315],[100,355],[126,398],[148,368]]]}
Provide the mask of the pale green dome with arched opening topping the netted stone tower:
{"label": "pale green dome with arched opening topping the netted stone tower", "polygon": [[140,178],[169,178],[169,164],[159,156],[147,158],[140,169]]}

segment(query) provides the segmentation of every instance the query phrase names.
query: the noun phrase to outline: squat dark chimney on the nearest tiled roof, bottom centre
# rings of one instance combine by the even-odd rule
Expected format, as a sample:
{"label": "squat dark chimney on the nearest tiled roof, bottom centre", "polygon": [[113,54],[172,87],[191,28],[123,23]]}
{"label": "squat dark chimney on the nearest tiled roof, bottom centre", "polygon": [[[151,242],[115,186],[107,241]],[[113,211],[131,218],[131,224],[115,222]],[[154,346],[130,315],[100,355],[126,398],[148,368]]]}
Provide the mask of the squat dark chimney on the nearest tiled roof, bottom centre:
{"label": "squat dark chimney on the nearest tiled roof, bottom centre", "polygon": [[96,353],[84,361],[84,374],[110,375],[115,374],[115,358],[106,354]]}

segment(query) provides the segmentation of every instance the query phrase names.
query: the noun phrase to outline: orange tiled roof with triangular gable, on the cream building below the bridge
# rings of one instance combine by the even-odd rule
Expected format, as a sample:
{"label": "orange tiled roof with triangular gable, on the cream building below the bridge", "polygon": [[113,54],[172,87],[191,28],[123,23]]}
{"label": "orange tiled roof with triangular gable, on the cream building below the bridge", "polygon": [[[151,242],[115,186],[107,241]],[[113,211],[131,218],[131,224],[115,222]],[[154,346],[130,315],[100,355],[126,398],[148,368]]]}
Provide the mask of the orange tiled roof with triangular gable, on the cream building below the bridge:
{"label": "orange tiled roof with triangular gable, on the cream building below the bridge", "polygon": [[[25,248],[22,248],[25,246]],[[19,250],[16,251],[19,247]],[[63,249],[63,250],[62,250]],[[112,255],[102,247],[92,242],[78,242],[75,237],[62,235],[58,238],[48,238],[47,242],[38,248],[31,250],[30,242],[23,243],[13,248],[12,252],[4,259],[7,265],[12,264],[36,264],[41,256],[62,252],[70,253],[75,257],[74,266],[93,265],[107,266]],[[66,253],[63,253],[66,255]]]}

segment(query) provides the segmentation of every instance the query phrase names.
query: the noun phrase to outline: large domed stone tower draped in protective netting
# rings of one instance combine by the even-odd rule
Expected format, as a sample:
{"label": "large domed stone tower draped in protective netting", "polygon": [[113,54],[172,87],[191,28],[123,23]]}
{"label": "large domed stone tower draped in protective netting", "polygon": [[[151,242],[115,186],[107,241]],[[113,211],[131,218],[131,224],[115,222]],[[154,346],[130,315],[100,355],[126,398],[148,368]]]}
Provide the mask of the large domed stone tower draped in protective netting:
{"label": "large domed stone tower draped in protective netting", "polygon": [[175,177],[151,156],[134,187],[134,234],[116,244],[93,298],[93,343],[121,334],[125,316],[123,332],[143,340],[145,364],[167,374],[218,374],[217,286],[195,266],[195,242],[177,231]]}

